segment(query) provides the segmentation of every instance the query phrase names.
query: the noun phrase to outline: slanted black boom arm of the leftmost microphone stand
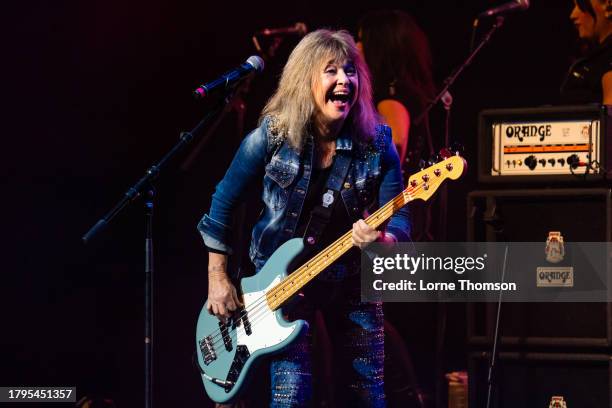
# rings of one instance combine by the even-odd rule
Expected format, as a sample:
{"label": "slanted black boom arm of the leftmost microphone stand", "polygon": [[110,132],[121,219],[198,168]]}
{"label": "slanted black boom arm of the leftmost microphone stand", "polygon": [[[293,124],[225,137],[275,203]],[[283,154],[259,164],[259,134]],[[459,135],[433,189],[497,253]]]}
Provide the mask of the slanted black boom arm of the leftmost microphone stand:
{"label": "slanted black boom arm of the leftmost microphone stand", "polygon": [[91,241],[98,233],[104,230],[108,224],[119,214],[129,203],[140,197],[146,189],[148,189],[152,182],[159,177],[161,170],[166,164],[174,158],[185,146],[187,146],[194,138],[199,135],[206,124],[215,117],[224,107],[226,98],[221,98],[220,102],[216,104],[200,122],[189,132],[182,132],[180,139],[177,144],[174,145],[168,153],[162,157],[162,159],[155,165],[151,166],[145,173],[145,175],[130,187],[123,198],[110,210],[103,218],[101,218],[89,231],[81,238],[85,244]]}

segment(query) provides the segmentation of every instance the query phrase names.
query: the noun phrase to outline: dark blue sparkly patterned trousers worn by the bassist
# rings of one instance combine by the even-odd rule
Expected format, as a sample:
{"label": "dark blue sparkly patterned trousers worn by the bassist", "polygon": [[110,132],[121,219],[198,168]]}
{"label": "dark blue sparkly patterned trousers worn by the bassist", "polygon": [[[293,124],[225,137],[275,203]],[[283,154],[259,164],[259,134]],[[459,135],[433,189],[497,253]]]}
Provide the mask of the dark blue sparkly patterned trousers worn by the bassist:
{"label": "dark blue sparkly patterned trousers worn by the bassist", "polygon": [[[319,309],[332,343],[334,406],[384,407],[384,321],[382,304],[362,303],[359,277],[340,281],[317,279],[290,319],[312,323]],[[312,324],[309,331],[312,330]],[[271,407],[312,404],[312,333],[303,333],[271,362]]]}

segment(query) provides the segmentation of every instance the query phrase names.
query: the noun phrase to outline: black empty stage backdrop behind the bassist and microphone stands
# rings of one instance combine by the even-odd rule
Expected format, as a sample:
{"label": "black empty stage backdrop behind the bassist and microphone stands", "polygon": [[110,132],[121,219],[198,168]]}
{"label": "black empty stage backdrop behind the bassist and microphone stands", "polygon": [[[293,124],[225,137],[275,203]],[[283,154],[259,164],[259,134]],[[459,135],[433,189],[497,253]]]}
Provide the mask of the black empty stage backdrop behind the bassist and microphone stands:
{"label": "black empty stage backdrop behind the bassist and microphone stands", "polygon": [[[119,407],[142,406],[140,205],[92,245],[80,237],[181,130],[195,125],[204,106],[191,90],[254,54],[255,31],[297,21],[311,30],[354,29],[368,10],[401,8],[429,35],[440,83],[467,55],[473,17],[498,4],[34,1],[5,14],[0,385],[76,385],[79,395],[98,392]],[[477,113],[556,102],[576,48],[571,7],[569,0],[536,0],[509,17],[451,90],[451,136],[466,145],[471,168],[449,185],[450,240],[465,239],[466,194],[478,188]],[[270,95],[286,51],[281,47],[279,58],[253,80],[247,128]],[[239,142],[230,132],[215,137],[193,166],[180,170],[183,155],[158,183],[160,407],[206,406],[191,362],[206,297],[206,254],[195,226]],[[432,393],[436,306],[394,305],[389,316],[415,359],[421,386]],[[465,331],[464,307],[450,306],[447,370],[467,366]]]}

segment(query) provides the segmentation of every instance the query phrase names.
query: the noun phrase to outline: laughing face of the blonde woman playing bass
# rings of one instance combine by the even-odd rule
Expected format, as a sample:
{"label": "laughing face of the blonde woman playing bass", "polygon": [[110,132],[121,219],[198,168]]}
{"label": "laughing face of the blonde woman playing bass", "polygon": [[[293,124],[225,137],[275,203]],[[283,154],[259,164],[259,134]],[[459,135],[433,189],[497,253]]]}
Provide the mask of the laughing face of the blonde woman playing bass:
{"label": "laughing face of the blonde woman playing bass", "polygon": [[359,76],[352,61],[323,64],[312,84],[317,122],[340,128],[355,104],[358,90]]}

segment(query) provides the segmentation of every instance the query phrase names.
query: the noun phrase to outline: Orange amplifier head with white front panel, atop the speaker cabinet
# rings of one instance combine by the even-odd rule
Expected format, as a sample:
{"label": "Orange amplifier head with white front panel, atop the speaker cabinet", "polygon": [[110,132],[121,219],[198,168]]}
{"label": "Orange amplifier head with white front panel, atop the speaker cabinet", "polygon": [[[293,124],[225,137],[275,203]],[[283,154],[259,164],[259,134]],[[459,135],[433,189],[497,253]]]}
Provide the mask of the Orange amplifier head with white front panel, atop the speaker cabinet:
{"label": "Orange amplifier head with white front panel, atop the speaker cabinet", "polygon": [[[479,115],[480,182],[612,176],[612,106],[489,109]],[[609,142],[609,143],[608,143]]]}

